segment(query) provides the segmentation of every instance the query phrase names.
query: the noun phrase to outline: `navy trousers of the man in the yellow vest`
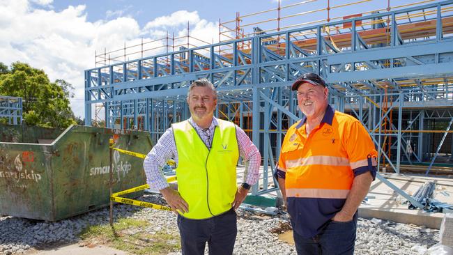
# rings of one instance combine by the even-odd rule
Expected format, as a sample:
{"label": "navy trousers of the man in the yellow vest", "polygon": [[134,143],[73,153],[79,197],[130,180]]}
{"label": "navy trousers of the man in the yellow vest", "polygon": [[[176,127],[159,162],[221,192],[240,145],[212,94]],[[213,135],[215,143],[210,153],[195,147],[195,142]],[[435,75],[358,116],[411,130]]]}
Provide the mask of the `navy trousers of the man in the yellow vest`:
{"label": "navy trousers of the man in the yellow vest", "polygon": [[209,254],[231,255],[236,241],[237,216],[231,208],[210,219],[187,219],[178,215],[183,255],[202,255],[206,242]]}

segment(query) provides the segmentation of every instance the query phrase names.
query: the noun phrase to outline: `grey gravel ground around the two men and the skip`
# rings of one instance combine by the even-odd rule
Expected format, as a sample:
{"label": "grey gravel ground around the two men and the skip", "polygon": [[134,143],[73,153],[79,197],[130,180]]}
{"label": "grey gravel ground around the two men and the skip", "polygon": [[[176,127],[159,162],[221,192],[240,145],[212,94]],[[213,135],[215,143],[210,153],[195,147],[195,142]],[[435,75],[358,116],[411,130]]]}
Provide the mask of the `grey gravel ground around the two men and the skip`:
{"label": "grey gravel ground around the two men and the skip", "polygon": [[[160,196],[146,194],[140,200],[162,203]],[[148,233],[178,233],[176,216],[167,211],[116,205],[115,217],[146,219]],[[287,215],[268,217],[238,210],[238,238],[234,254],[296,254],[293,245],[279,240],[275,229],[287,225]],[[86,226],[108,224],[109,210],[96,210],[59,222],[0,217],[0,254],[23,254],[30,249],[79,242]],[[282,225],[283,224],[283,225]],[[359,219],[355,254],[423,254],[439,241],[439,231],[413,224],[381,219]],[[175,253],[181,254],[181,253]]]}

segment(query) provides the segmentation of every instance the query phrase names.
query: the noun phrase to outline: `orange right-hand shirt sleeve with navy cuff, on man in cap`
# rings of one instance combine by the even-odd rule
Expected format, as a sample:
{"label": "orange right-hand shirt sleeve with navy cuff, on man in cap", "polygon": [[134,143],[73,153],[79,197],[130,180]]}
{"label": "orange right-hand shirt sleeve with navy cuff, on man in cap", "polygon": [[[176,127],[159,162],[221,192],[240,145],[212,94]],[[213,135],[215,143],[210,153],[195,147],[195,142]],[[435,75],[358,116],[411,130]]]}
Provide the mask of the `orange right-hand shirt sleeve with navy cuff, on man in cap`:
{"label": "orange right-hand shirt sleeve with navy cuff, on man in cap", "polygon": [[346,153],[354,176],[369,171],[374,180],[376,178],[376,166],[378,165],[378,152],[367,130],[359,121],[355,121],[348,128],[345,141]]}

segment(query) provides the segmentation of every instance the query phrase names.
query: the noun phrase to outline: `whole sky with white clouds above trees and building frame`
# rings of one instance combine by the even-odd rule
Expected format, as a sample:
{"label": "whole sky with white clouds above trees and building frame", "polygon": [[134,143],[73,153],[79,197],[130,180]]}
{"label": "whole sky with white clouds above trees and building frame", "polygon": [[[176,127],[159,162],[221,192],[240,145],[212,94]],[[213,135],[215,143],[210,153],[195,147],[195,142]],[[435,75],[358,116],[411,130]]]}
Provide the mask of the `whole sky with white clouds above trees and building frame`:
{"label": "whole sky with white clouds above trees and building frame", "polygon": [[[335,8],[330,17],[340,17],[366,10],[385,8],[387,0],[330,0],[330,6],[359,2],[354,6]],[[362,1],[362,2],[361,2]],[[418,0],[417,0],[418,1]],[[425,0],[426,1],[426,0]],[[432,0],[438,1],[438,0]],[[281,0],[281,17],[307,10],[325,8],[326,0]],[[390,6],[414,3],[415,0],[390,0]],[[43,69],[49,79],[65,79],[75,87],[70,100],[72,111],[84,118],[84,70],[95,68],[95,52],[112,51],[141,40],[162,38],[169,31],[185,36],[187,22],[190,35],[207,42],[219,40],[219,19],[234,20],[240,15],[277,8],[278,0],[0,0],[0,62],[29,63]],[[370,9],[371,8],[371,9]],[[325,18],[325,12],[284,20],[287,25]],[[245,17],[244,24],[277,17],[272,10]],[[282,21],[282,26],[286,25]],[[234,27],[231,23],[229,26]],[[275,22],[258,26],[275,27]],[[249,26],[251,28],[252,26]],[[197,45],[197,42],[191,44]],[[201,43],[201,42],[200,42]],[[160,46],[159,42],[155,42]],[[148,54],[162,53],[156,49]],[[94,108],[94,107],[93,107]]]}

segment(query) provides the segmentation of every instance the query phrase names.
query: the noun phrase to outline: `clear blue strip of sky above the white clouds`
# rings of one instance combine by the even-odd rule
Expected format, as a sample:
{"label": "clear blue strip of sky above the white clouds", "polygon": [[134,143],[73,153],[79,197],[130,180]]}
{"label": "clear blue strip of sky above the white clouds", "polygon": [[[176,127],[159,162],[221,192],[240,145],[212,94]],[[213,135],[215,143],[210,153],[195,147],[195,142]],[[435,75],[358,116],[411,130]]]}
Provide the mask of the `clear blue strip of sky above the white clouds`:
{"label": "clear blue strip of sky above the white clouds", "polygon": [[[46,1],[46,0],[44,0]],[[281,6],[287,6],[293,3],[306,2],[307,0],[281,0]],[[337,6],[344,3],[359,2],[361,0],[330,0],[330,6]],[[423,0],[390,0],[390,6],[400,6],[408,3],[417,3]],[[222,21],[233,20],[236,12],[241,15],[256,13],[261,10],[269,10],[277,8],[277,0],[224,0],[224,1],[207,1],[207,0],[167,0],[167,1],[82,1],[82,0],[60,0],[52,2],[52,8],[56,11],[61,11],[68,6],[85,5],[87,13],[87,21],[96,22],[98,20],[112,20],[116,17],[130,16],[134,17],[140,26],[144,26],[155,17],[169,15],[178,10],[187,10],[189,12],[197,11],[205,20],[217,22],[219,18]],[[288,13],[298,13],[307,10],[316,10],[325,8],[327,0],[316,0],[304,3],[300,6],[293,7]],[[371,0],[368,2],[358,3],[354,6],[344,7],[337,11],[339,14],[361,13],[364,10],[383,8],[387,6],[387,0]],[[286,10],[282,10],[284,12]],[[272,14],[276,15],[276,12]],[[273,17],[271,14],[266,14],[268,17]]]}

